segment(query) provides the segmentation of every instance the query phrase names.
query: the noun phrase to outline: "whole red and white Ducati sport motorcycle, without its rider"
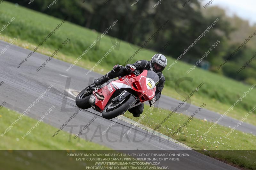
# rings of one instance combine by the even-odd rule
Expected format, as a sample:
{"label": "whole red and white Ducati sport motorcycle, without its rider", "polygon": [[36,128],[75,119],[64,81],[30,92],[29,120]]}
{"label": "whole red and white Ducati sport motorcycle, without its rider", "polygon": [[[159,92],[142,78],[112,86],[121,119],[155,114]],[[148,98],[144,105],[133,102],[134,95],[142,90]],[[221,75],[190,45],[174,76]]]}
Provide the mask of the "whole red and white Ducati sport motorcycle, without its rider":
{"label": "whole red and white Ducati sport motorcycle, without its rider", "polygon": [[[126,68],[126,67],[125,67]],[[113,119],[124,114],[132,107],[151,100],[155,96],[159,77],[154,71],[130,71],[118,80],[96,86],[94,83],[86,87],[76,96],[76,106],[82,109],[92,107],[101,112],[102,117]]]}

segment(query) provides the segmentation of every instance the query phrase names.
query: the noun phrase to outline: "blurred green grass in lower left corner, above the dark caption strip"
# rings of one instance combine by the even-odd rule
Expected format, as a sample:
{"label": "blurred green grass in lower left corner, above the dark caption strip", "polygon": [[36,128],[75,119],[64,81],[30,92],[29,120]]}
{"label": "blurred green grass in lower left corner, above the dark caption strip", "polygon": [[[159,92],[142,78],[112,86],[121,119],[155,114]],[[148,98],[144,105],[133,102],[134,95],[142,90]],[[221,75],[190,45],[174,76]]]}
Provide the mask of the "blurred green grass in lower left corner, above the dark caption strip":
{"label": "blurred green grass in lower left corner, above the dark caption strip", "polygon": [[[81,139],[79,142],[69,139],[69,133],[61,131],[56,137],[52,134],[58,129],[44,122],[41,122],[38,127],[32,130],[30,135],[22,139],[22,136],[29,130],[38,120],[28,116],[23,116],[11,130],[5,135],[2,133],[8,128],[13,121],[19,116],[18,113],[7,108],[2,108],[0,111],[0,150],[109,150],[109,148],[100,144],[87,142]],[[3,135],[3,137],[2,137]],[[75,135],[72,135],[74,137]]]}

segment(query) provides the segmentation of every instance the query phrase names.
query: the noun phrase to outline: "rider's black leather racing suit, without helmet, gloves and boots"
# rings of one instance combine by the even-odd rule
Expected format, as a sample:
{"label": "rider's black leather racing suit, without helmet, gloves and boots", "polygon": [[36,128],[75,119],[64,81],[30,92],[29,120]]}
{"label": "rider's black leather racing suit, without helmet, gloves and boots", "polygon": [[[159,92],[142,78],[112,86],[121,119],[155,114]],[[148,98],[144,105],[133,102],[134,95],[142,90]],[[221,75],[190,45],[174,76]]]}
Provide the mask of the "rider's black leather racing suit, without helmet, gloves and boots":
{"label": "rider's black leather racing suit, without helmet, gloves and boots", "polygon": [[[136,70],[140,71],[140,73],[143,72],[143,70],[150,70],[150,61],[147,60],[140,60],[137,61],[135,63],[133,63],[132,65],[134,65],[136,67]],[[112,78],[116,78],[116,77],[123,77],[125,75],[130,74],[127,70],[125,70],[123,67],[120,67],[119,70],[114,71],[115,70],[115,66],[113,68],[113,70],[109,71],[106,74],[106,77],[109,79]],[[159,83],[156,85],[156,92],[155,92],[155,99],[159,100],[161,97],[161,92],[164,88],[164,83],[165,83],[165,78],[162,72],[157,74],[159,76]],[[129,109],[128,111],[131,112],[132,114],[142,114],[144,110],[144,103],[141,103],[140,105],[136,106],[136,107],[132,107],[131,109]]]}

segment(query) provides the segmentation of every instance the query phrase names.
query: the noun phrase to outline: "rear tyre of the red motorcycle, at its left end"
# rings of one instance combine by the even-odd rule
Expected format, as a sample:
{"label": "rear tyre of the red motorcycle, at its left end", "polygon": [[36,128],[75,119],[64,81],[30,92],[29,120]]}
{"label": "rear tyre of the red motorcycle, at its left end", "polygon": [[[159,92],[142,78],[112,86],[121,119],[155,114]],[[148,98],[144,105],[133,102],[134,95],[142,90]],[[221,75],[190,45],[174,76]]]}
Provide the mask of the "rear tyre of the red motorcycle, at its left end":
{"label": "rear tyre of the red motorcycle, at its left end", "polygon": [[84,94],[84,92],[87,90],[87,87],[82,90],[77,96],[76,96],[76,106],[79,107],[79,108],[82,108],[82,109],[88,109],[90,107],[92,107],[90,104],[89,104],[89,99],[92,95],[92,92],[91,93],[87,93],[86,95]]}

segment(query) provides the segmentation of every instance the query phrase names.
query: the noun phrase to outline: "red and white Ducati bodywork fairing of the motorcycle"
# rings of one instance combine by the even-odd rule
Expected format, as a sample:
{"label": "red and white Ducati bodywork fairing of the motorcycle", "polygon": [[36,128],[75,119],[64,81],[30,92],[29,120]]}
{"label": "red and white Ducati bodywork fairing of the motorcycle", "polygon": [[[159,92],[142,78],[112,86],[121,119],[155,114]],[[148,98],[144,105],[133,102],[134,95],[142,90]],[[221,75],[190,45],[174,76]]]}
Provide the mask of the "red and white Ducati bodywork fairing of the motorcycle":
{"label": "red and white Ducati bodywork fairing of the motorcycle", "polygon": [[[110,82],[107,86],[104,86],[97,91],[94,91],[93,94],[98,93],[100,96],[104,97],[104,100],[99,100],[97,97],[95,99],[95,105],[100,108],[102,111],[111,96],[118,89],[130,88],[137,93],[137,97],[140,98],[140,102],[145,102],[151,100],[155,96],[156,87],[149,90],[146,85],[148,70],[144,70],[139,76],[136,77],[135,74],[131,73],[127,76],[124,76],[118,80]],[[95,95],[96,96],[96,95]]]}

